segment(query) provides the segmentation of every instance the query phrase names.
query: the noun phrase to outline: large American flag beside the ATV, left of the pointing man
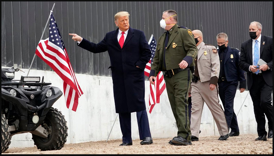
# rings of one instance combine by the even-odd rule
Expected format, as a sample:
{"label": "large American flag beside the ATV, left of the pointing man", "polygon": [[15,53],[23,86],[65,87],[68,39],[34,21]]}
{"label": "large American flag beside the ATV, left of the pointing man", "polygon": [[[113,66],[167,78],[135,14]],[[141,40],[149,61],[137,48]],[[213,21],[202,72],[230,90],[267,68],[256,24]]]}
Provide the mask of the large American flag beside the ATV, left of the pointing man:
{"label": "large American flag beside the ATV, left of the pointing man", "polygon": [[50,15],[49,38],[38,43],[35,54],[45,61],[63,80],[67,108],[76,111],[78,98],[83,94],[67,55],[57,23]]}

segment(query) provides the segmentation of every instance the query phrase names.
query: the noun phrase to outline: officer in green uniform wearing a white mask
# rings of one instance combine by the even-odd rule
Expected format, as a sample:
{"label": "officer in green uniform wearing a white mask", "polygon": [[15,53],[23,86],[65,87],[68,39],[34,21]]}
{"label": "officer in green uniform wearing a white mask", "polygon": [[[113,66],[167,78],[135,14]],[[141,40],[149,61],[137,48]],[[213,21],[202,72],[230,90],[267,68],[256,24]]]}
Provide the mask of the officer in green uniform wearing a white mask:
{"label": "officer in green uniform wearing a white mask", "polygon": [[198,49],[192,31],[177,25],[176,11],[164,11],[160,25],[167,31],[157,42],[149,81],[154,84],[155,76],[165,71],[167,95],[178,127],[178,136],[170,140],[169,144],[191,145],[188,89]]}

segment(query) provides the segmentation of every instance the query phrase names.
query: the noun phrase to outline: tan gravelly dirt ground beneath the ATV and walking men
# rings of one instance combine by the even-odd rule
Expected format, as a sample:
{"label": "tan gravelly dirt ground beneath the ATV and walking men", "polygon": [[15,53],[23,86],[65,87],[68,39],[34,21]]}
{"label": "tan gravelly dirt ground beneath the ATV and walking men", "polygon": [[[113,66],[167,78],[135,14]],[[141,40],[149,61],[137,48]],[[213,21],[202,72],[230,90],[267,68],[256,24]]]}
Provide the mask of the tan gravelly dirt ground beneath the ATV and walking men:
{"label": "tan gravelly dirt ground beneath the ATV and walking men", "polygon": [[151,145],[140,145],[133,140],[132,146],[121,147],[122,140],[65,144],[58,151],[40,151],[36,147],[11,148],[2,154],[273,154],[273,140],[255,141],[256,134],[243,134],[229,137],[226,141],[218,136],[200,137],[192,145],[174,146],[168,142],[172,138],[153,139]]}

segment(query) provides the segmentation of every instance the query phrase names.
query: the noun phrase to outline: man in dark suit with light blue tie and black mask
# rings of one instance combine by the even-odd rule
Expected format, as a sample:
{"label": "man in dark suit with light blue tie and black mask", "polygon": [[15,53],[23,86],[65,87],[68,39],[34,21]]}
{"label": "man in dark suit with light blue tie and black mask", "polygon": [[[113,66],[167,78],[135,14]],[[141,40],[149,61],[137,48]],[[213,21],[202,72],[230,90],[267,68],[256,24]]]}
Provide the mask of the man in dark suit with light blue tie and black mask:
{"label": "man in dark suit with light blue tie and black mask", "polygon": [[[253,101],[254,113],[257,122],[258,138],[267,140],[273,137],[273,121],[271,93],[273,87],[273,38],[261,35],[262,25],[251,22],[249,26],[249,40],[241,45],[239,66],[247,72],[247,88]],[[267,64],[257,66],[259,59]],[[265,115],[268,120],[268,136],[265,131]]]}

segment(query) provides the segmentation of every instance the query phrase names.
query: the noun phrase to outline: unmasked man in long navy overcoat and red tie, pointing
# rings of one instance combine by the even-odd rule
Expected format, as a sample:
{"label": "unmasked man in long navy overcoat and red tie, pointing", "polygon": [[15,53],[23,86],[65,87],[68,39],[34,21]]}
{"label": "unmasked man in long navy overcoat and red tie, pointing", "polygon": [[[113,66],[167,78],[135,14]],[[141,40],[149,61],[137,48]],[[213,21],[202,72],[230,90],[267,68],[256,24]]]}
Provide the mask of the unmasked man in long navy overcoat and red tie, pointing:
{"label": "unmasked man in long navy overcoat and red tie, pointing", "polygon": [[108,32],[98,44],[72,35],[78,46],[92,53],[108,51],[112,71],[113,93],[116,113],[119,113],[123,143],[132,145],[130,113],[136,112],[141,145],[151,144],[148,116],[144,100],[144,69],[151,51],[144,32],[129,26],[129,14],[121,11],[115,14],[115,24],[119,28]]}

